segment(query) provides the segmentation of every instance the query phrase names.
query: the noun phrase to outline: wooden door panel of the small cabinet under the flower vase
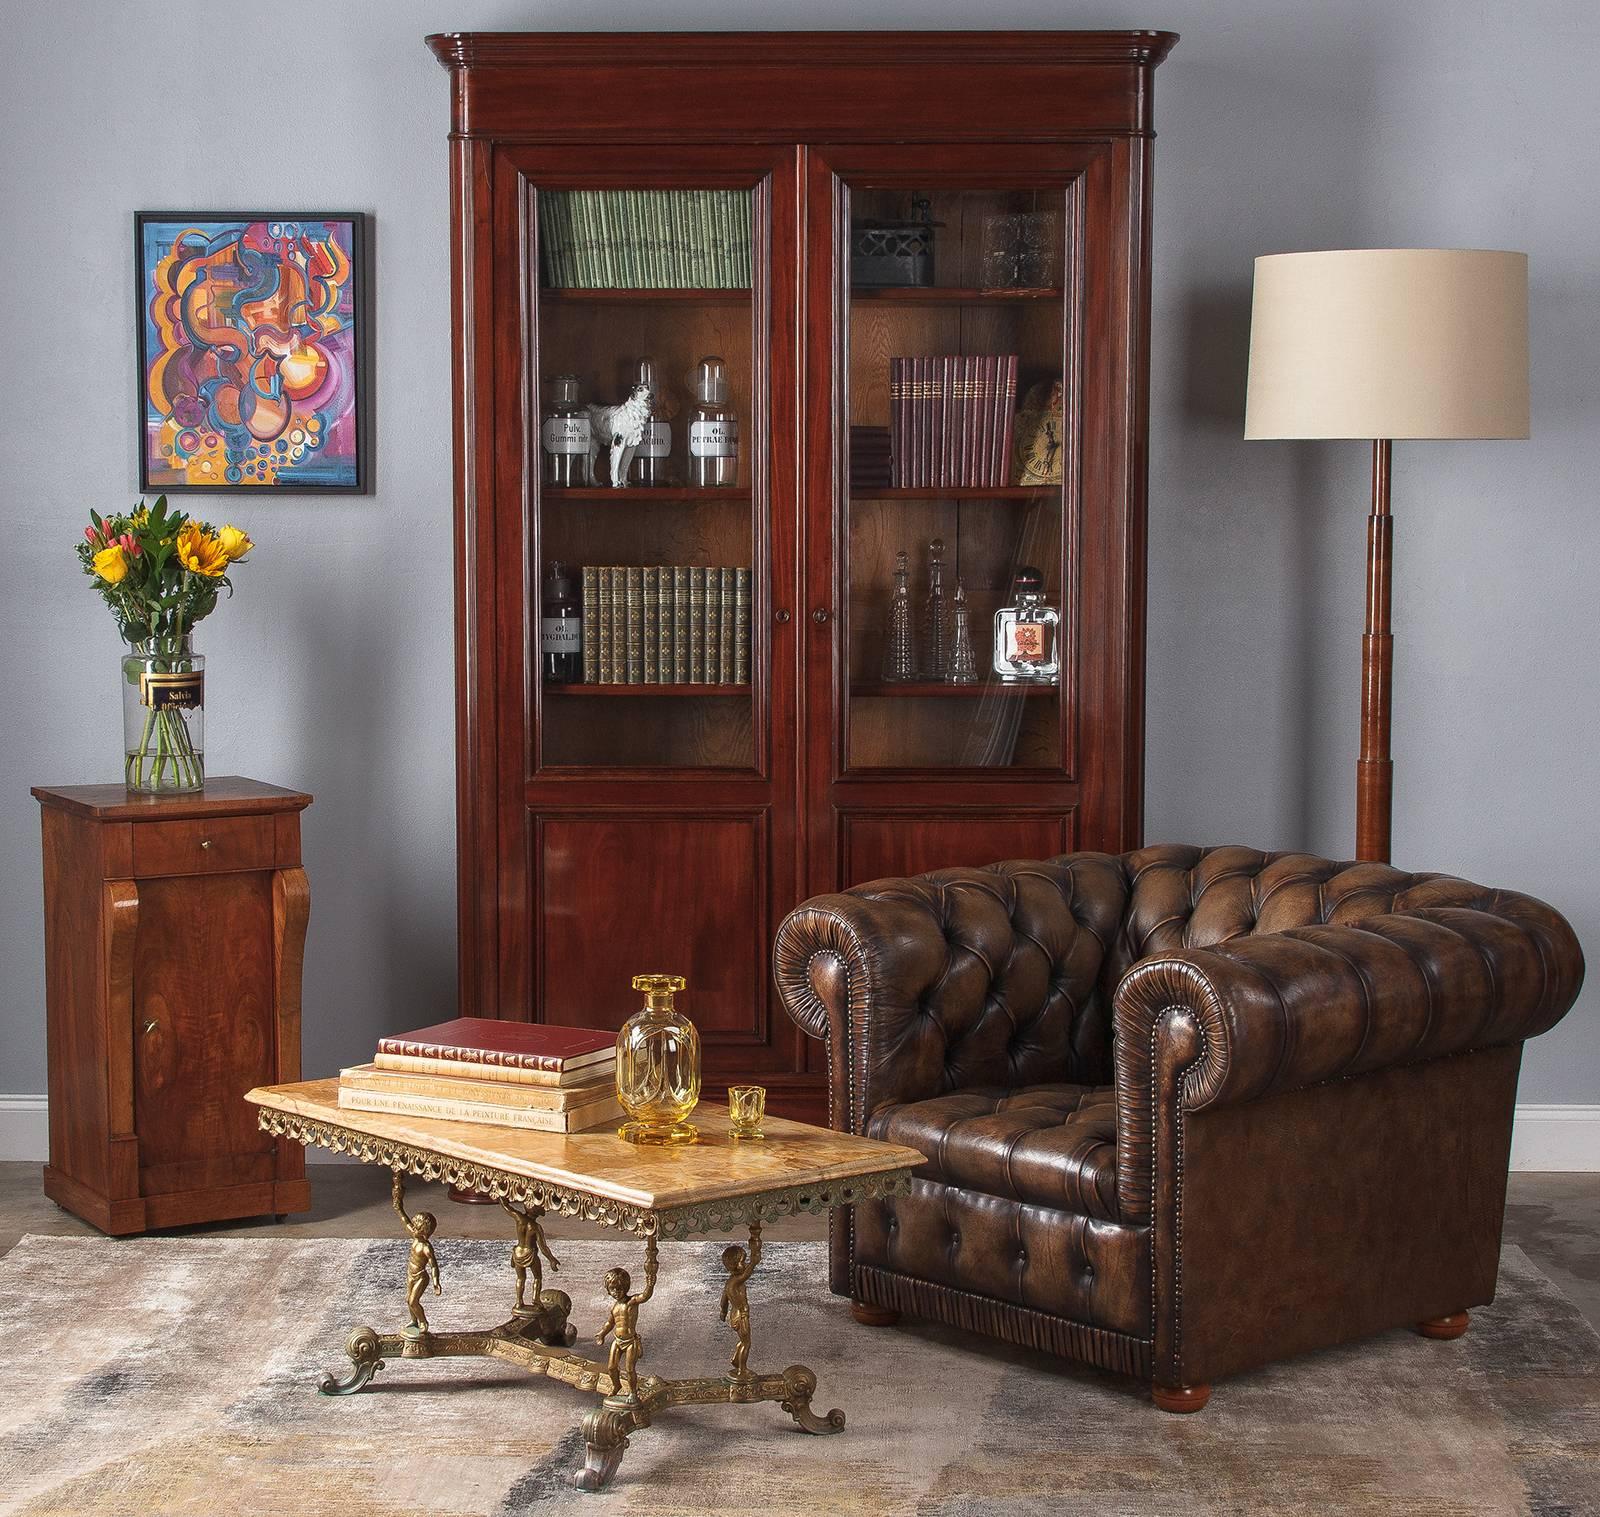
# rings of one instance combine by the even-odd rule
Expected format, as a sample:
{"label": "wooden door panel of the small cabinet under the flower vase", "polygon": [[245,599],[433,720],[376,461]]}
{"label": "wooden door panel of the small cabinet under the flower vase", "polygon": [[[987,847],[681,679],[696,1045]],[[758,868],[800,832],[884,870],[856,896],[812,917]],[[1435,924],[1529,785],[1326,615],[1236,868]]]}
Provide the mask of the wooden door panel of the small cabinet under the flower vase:
{"label": "wooden door panel of the small cabinet under the flower vase", "polygon": [[133,1039],[144,1194],[272,1179],[274,1141],[243,1099],[272,1079],[272,976],[270,874],[139,883]]}

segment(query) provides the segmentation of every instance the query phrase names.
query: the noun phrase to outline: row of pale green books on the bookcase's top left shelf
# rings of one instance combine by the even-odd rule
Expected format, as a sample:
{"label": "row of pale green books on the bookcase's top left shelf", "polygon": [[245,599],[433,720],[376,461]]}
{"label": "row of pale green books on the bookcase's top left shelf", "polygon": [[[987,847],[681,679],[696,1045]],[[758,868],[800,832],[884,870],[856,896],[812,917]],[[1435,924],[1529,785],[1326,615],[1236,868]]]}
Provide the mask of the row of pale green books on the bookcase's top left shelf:
{"label": "row of pale green books on the bookcase's top left shelf", "polygon": [[746,290],[744,190],[544,190],[544,278],[552,290]]}

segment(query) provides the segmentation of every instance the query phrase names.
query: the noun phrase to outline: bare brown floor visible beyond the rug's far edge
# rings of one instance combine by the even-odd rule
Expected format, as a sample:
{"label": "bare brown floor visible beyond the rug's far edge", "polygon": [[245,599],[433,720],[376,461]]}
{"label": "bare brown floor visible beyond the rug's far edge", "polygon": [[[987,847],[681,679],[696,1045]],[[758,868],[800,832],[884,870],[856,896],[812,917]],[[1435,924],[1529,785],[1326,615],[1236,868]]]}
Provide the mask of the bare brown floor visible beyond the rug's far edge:
{"label": "bare brown floor visible beyond the rug's far edge", "polygon": [[[389,1210],[387,1170],[354,1163],[317,1163],[309,1170],[312,1210],[302,1216],[280,1224],[266,1218],[173,1231],[248,1235],[282,1229],[310,1237],[398,1237]],[[509,1224],[499,1207],[464,1207],[445,1200],[442,1191],[434,1189],[434,1194],[443,1237],[507,1237]],[[558,1216],[549,1218],[546,1231],[550,1237],[603,1234],[592,1224]],[[37,1163],[0,1163],[0,1253],[26,1232],[99,1237],[88,1223],[45,1197]],[[766,1227],[765,1235],[822,1239],[827,1223],[821,1216],[787,1218]],[[1525,1250],[1600,1331],[1600,1175],[1512,1175],[1506,1242]]]}

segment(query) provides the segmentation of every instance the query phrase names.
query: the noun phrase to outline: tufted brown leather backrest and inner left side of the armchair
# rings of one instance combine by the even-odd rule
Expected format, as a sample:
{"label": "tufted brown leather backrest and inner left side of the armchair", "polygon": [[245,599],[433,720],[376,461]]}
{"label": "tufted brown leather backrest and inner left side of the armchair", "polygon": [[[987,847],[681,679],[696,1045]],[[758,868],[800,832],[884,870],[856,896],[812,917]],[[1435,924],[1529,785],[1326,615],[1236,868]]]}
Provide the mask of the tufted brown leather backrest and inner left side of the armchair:
{"label": "tufted brown leather backrest and inner left side of the armchair", "polygon": [[[848,895],[875,903],[888,971],[880,994],[904,1002],[883,1051],[893,1069],[882,1074],[907,1098],[1109,1083],[1112,997],[1141,959],[1390,911],[1478,906],[1493,893],[1310,853],[1160,845],[939,869]],[[933,933],[942,952],[909,952],[914,939],[936,949]]]}

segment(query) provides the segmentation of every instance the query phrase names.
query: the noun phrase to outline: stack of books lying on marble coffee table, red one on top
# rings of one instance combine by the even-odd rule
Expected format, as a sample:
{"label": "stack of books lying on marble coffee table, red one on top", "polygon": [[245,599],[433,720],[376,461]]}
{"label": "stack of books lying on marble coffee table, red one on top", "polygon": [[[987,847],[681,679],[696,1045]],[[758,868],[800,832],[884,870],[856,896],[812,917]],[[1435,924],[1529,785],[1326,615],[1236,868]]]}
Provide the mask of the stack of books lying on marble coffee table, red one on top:
{"label": "stack of books lying on marble coffee table, red one on top", "polygon": [[622,1115],[616,1034],[461,1016],[382,1039],[371,1064],[341,1071],[339,1106],[581,1133]]}

